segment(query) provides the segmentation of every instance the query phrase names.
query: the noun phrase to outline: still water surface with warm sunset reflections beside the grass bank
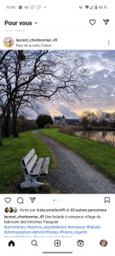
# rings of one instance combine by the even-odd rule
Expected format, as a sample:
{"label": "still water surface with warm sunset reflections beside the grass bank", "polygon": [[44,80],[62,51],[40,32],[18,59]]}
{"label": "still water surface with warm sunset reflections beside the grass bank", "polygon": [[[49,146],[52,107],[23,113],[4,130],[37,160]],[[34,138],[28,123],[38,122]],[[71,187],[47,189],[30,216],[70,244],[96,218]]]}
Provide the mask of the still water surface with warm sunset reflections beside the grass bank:
{"label": "still water surface with warm sunset reflections beside the grass bank", "polygon": [[85,137],[89,140],[107,143],[115,147],[115,131],[76,131],[78,137]]}

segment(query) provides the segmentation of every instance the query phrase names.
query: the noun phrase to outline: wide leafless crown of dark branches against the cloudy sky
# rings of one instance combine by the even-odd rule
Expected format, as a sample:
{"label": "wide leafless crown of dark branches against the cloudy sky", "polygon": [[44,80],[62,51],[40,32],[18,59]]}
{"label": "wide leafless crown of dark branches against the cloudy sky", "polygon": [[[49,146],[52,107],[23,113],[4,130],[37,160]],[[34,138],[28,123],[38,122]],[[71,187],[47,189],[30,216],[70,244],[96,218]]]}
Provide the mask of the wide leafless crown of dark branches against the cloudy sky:
{"label": "wide leafless crown of dark branches against the cloudy sky", "polygon": [[80,91],[90,84],[89,70],[84,68],[85,64],[83,56],[72,55],[69,51],[10,50],[0,70],[3,104],[0,119],[11,106],[16,119],[21,102],[43,102],[50,97],[54,100],[59,97],[79,98]]}

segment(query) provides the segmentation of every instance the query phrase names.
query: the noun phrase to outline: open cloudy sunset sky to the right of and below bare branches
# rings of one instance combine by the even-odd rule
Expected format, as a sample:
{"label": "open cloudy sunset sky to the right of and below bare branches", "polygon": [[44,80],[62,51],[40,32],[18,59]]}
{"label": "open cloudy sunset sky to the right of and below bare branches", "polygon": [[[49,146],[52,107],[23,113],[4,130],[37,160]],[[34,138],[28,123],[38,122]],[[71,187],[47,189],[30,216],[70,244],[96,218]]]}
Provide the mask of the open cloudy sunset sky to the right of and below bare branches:
{"label": "open cloudy sunset sky to the right of and below bare branches", "polygon": [[47,102],[41,113],[49,113],[52,117],[64,114],[74,119],[86,110],[115,111],[115,50],[72,51],[72,55],[75,53],[85,57],[85,67],[91,73],[91,85],[80,94],[82,101]]}

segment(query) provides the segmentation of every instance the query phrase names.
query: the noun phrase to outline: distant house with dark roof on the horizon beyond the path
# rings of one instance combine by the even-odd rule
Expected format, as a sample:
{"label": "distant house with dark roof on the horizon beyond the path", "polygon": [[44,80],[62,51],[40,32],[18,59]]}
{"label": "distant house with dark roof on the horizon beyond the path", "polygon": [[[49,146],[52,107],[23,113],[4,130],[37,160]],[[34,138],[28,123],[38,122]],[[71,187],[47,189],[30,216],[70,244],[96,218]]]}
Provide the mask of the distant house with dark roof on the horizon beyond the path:
{"label": "distant house with dark roof on the horizon beyond the path", "polygon": [[64,115],[55,116],[54,125],[78,125],[79,119],[66,119]]}

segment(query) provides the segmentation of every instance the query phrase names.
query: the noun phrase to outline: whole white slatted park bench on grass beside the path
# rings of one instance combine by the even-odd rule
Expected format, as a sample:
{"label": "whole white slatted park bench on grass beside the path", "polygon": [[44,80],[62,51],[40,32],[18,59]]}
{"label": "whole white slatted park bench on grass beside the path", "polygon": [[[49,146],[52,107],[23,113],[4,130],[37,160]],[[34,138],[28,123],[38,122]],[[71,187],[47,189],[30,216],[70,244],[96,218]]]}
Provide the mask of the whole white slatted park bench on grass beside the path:
{"label": "whole white slatted park bench on grass beside the path", "polygon": [[21,166],[24,171],[25,182],[20,184],[20,188],[40,187],[44,183],[37,182],[36,178],[48,174],[49,157],[44,160],[37,160],[34,148],[21,159]]}

